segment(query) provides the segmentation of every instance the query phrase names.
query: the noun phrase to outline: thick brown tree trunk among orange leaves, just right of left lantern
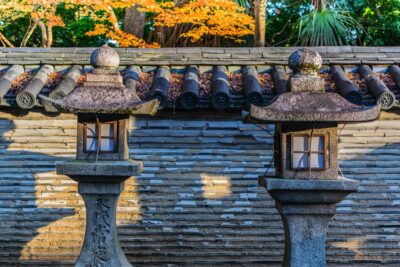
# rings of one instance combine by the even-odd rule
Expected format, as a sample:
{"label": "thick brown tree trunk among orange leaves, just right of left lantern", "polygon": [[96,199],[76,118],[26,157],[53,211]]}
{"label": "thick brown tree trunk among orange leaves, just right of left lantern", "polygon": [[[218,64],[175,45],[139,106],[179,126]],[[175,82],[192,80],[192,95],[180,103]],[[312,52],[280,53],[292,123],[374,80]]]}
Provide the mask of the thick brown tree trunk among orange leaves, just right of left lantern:
{"label": "thick brown tree trunk among orange leaves, just right of left lantern", "polygon": [[143,38],[146,13],[140,12],[137,6],[127,8],[124,17],[124,31]]}

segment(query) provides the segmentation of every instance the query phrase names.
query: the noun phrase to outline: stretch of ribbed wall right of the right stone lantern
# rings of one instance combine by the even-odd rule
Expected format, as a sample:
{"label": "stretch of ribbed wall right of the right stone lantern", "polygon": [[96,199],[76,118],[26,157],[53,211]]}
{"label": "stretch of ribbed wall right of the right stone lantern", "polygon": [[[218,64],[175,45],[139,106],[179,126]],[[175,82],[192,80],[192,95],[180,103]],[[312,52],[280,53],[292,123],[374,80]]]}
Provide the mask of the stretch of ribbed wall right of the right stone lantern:
{"label": "stretch of ribbed wall right of the right stone lantern", "polygon": [[[373,131],[379,135],[382,129]],[[368,144],[357,144],[357,136],[353,144],[341,138],[345,147],[340,153],[341,169],[345,177],[360,181],[360,188],[338,205],[330,225],[327,256],[331,265],[400,264],[400,138],[393,133],[372,137]]]}

